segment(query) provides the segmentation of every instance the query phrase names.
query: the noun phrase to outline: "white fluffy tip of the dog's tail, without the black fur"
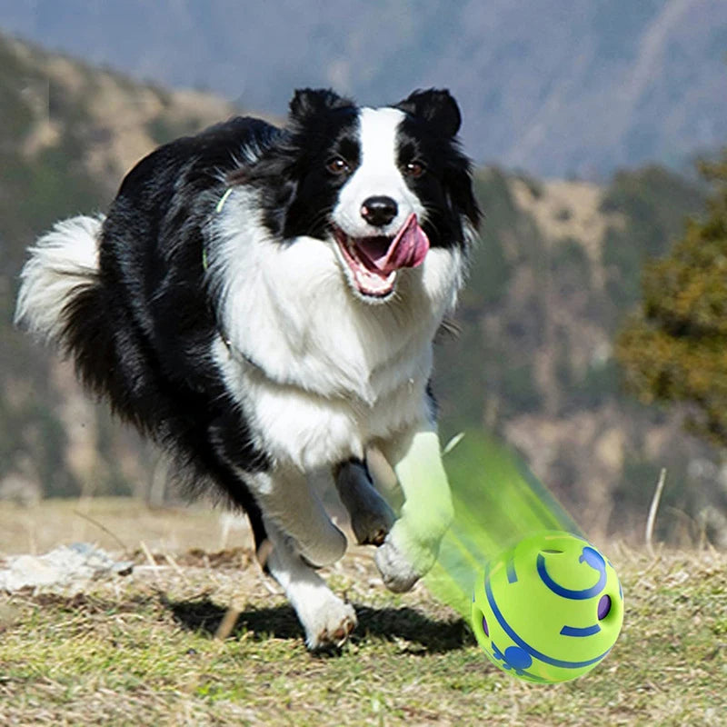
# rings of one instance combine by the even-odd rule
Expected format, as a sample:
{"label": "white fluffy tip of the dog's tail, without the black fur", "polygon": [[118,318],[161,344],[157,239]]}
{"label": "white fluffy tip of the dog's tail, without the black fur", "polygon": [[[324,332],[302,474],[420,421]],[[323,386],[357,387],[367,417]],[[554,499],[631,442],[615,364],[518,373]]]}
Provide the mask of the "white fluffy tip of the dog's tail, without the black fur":
{"label": "white fluffy tip of the dog's tail, without the black fur", "polygon": [[103,223],[103,215],[72,217],[56,223],[30,248],[20,274],[15,324],[46,341],[61,342],[66,305],[97,281]]}

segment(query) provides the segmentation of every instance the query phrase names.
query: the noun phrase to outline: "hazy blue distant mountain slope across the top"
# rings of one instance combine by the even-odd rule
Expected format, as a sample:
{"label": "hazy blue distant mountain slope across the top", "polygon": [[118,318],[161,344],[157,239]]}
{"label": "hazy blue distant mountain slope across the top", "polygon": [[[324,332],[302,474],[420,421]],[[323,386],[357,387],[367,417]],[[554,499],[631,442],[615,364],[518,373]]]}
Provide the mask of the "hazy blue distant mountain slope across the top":
{"label": "hazy blue distant mountain slope across the top", "polygon": [[0,27],[165,85],[282,113],[296,86],[366,104],[449,86],[478,163],[607,178],[727,138],[722,0],[450,3],[0,0]]}

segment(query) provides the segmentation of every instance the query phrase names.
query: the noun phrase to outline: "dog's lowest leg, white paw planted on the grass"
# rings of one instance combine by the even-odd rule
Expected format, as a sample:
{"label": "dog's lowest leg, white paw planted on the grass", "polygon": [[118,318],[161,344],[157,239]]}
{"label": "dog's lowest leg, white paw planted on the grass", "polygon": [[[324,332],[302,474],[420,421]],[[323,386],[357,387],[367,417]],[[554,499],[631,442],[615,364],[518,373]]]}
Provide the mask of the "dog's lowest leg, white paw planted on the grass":
{"label": "dog's lowest leg, white paw planted on the grass", "polygon": [[270,547],[264,569],[283,587],[305,630],[311,651],[341,646],[356,625],[351,603],[335,595],[323,578],[291,547],[278,526],[264,517]]}

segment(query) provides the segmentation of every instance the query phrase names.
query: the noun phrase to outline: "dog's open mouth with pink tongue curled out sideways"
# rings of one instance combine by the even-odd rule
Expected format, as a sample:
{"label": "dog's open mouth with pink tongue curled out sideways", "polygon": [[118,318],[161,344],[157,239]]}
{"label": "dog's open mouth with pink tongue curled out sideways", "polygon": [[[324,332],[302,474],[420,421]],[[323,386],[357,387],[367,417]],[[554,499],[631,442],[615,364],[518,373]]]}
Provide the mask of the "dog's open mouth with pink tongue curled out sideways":
{"label": "dog's open mouth with pink tongue curled out sideways", "polygon": [[391,294],[397,272],[403,267],[421,265],[429,251],[429,238],[419,226],[416,214],[410,214],[393,237],[351,237],[336,226],[334,235],[356,289],[374,298]]}

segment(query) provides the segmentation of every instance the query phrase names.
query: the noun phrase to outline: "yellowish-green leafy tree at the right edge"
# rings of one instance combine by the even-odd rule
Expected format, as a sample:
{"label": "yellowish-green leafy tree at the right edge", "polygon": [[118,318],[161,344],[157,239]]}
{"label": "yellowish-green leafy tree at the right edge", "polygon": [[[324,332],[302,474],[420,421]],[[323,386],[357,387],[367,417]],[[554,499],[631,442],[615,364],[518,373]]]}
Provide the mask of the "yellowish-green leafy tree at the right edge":
{"label": "yellowish-green leafy tree at the right edge", "polygon": [[617,338],[626,384],[646,403],[684,403],[694,433],[727,446],[727,149],[701,164],[712,195],[672,252],[646,264],[642,307]]}

